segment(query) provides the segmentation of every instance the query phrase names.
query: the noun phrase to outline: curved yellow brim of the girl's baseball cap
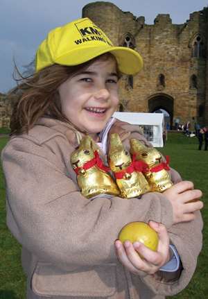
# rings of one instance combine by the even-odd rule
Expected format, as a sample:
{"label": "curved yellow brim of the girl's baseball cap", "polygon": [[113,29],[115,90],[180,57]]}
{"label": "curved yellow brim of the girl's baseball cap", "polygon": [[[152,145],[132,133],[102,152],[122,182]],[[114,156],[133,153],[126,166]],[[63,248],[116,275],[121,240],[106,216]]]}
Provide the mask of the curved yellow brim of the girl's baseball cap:
{"label": "curved yellow brim of the girl's baseball cap", "polygon": [[143,67],[141,55],[135,50],[124,46],[101,46],[100,49],[98,49],[98,46],[89,46],[85,47],[85,49],[76,49],[76,51],[65,53],[54,62],[60,65],[80,65],[107,52],[114,55],[118,63],[119,71],[123,74],[135,75]]}

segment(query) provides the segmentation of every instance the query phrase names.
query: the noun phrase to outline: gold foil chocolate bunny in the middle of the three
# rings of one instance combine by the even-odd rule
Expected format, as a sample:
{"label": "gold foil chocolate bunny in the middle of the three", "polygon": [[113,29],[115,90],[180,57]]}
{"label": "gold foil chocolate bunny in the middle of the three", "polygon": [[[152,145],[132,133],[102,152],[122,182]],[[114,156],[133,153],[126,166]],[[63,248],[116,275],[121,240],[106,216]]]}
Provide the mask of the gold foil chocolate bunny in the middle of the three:
{"label": "gold foil chocolate bunny in the middle of the three", "polygon": [[110,135],[108,163],[121,191],[121,197],[132,198],[148,192],[149,185],[144,177],[141,165],[134,161],[129,151],[125,150],[118,134]]}

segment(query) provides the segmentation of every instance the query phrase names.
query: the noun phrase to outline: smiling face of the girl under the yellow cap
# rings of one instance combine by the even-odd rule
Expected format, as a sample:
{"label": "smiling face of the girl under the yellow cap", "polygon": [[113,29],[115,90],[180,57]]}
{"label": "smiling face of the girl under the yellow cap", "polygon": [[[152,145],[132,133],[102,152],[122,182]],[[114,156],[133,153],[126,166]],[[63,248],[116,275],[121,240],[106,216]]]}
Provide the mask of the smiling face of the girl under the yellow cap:
{"label": "smiling face of the girl under the yellow cap", "polygon": [[116,60],[102,58],[58,88],[62,113],[96,139],[119,104]]}

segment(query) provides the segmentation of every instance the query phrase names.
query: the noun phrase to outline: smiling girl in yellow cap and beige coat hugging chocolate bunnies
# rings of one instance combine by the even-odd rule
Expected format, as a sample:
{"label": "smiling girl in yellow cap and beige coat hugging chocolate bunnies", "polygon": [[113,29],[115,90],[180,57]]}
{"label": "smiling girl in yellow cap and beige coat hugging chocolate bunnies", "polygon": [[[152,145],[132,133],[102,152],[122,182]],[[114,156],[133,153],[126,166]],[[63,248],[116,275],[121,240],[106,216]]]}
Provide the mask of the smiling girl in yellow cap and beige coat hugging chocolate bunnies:
{"label": "smiling girl in yellow cap and beige coat hugging chocolate bunnies", "polygon": [[[175,185],[163,194],[90,200],[70,164],[86,134],[104,161],[111,133],[126,148],[132,137],[150,146],[137,126],[112,118],[121,73],[137,74],[142,65],[139,53],[113,46],[92,21],[78,19],[49,33],[37,49],[35,74],[18,87],[2,162],[7,223],[22,245],[29,299],[159,299],[191,280],[202,246],[202,202],[188,203],[202,193],[192,182],[171,169]],[[131,221],[150,221],[157,252],[116,240]]]}

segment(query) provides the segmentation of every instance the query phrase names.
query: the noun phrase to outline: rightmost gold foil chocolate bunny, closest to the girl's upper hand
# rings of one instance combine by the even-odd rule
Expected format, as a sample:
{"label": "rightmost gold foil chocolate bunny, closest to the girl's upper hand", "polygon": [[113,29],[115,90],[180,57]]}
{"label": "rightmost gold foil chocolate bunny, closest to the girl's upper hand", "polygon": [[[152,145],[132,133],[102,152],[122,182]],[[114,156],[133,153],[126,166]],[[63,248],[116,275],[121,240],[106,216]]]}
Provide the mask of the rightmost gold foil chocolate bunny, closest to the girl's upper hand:
{"label": "rightmost gold foil chocolate bunny, closest to the girl's upper hand", "polygon": [[168,161],[162,162],[162,155],[156,148],[149,148],[137,139],[130,139],[130,153],[135,155],[136,160],[147,164],[144,176],[150,185],[150,191],[162,192],[173,185]]}

